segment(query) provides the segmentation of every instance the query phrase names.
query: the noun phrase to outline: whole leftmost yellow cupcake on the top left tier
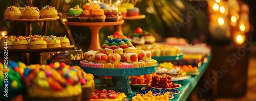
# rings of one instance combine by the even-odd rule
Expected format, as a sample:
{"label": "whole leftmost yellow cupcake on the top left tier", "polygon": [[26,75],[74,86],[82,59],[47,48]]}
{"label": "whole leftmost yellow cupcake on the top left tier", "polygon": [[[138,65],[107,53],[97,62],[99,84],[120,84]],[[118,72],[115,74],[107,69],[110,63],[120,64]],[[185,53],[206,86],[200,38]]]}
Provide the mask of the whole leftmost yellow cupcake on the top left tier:
{"label": "whole leftmost yellow cupcake on the top left tier", "polygon": [[20,19],[22,12],[15,6],[8,7],[4,12],[5,19]]}

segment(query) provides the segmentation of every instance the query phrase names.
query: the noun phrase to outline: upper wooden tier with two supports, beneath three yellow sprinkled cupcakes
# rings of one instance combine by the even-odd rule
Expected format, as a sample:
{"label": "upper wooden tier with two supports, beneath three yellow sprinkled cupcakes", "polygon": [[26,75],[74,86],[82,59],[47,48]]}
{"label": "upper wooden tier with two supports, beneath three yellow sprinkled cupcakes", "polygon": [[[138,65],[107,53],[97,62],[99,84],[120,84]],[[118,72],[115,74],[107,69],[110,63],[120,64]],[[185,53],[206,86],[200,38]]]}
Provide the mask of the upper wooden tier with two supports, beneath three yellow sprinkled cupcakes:
{"label": "upper wooden tier with two supports, beneath three yellow sprinkled cupcakes", "polygon": [[8,22],[26,22],[26,35],[25,36],[29,36],[31,35],[31,23],[32,22],[40,22],[40,21],[44,21],[44,27],[42,28],[43,32],[45,34],[45,36],[47,36],[47,23],[48,21],[54,21],[54,20],[58,20],[59,16],[56,18],[40,18],[40,19],[4,19],[4,21],[8,21]]}

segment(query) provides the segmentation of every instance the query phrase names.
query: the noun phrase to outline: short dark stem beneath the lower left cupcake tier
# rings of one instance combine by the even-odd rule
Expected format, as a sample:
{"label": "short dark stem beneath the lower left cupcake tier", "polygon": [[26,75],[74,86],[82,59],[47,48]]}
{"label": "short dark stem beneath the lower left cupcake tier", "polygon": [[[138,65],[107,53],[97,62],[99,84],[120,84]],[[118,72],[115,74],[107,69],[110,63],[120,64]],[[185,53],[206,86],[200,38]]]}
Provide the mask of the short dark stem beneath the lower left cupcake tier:
{"label": "short dark stem beneath the lower left cupcake tier", "polygon": [[29,53],[30,64],[42,64],[41,53]]}

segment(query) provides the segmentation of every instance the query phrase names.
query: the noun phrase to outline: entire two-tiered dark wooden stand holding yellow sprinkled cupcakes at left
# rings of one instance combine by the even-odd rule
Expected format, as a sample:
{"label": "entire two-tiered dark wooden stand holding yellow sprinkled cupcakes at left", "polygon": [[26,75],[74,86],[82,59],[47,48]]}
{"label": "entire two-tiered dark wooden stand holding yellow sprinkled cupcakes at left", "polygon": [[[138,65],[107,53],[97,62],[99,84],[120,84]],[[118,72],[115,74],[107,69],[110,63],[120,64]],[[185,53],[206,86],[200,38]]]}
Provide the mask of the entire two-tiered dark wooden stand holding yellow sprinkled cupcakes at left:
{"label": "entire two-tiered dark wooden stand holding yellow sprinkled cupcakes at left", "polygon": [[[44,21],[44,28],[43,33],[47,35],[47,22],[48,21],[54,21],[58,20],[59,17],[56,18],[39,18],[39,19],[3,19],[6,22],[26,22],[26,36],[31,35],[30,26],[32,22],[40,22]],[[42,64],[42,58],[41,53],[42,52],[57,52],[57,51],[65,51],[65,50],[71,50],[74,47],[74,45],[65,46],[65,47],[58,47],[58,48],[40,48],[40,49],[8,49],[8,53],[29,53],[29,62],[30,64]],[[1,52],[4,52],[4,49],[0,50]]]}

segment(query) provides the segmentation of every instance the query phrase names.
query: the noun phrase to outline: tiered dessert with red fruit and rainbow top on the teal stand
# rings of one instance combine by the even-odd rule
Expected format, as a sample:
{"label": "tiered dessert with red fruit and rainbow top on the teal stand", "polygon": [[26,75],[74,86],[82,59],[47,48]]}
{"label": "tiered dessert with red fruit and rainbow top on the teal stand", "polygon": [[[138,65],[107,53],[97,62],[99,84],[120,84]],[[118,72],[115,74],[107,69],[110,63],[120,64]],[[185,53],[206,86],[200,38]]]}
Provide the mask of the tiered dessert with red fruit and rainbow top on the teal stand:
{"label": "tiered dessert with red fruit and rainbow top on the teal stand", "polygon": [[99,51],[83,53],[84,60],[80,65],[92,68],[139,68],[154,66],[151,51],[140,51],[133,46],[126,36],[115,32],[108,36]]}

